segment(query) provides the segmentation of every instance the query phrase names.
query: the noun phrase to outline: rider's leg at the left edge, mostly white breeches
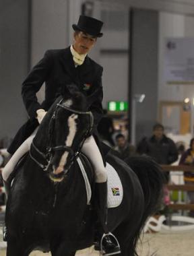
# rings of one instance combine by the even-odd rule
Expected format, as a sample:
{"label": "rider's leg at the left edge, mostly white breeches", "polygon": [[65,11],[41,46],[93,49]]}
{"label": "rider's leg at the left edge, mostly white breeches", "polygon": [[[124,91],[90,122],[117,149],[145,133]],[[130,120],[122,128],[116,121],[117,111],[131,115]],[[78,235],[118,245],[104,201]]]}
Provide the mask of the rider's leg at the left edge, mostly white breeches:
{"label": "rider's leg at the left edge, mostly white breeches", "polygon": [[[11,158],[9,159],[9,162],[7,162],[7,164],[3,168],[2,177],[3,177],[3,182],[5,183],[6,195],[9,193],[9,186],[10,186],[10,185],[8,186],[7,179],[9,178],[11,172],[13,172],[20,158],[22,158],[22,156],[24,156],[24,154],[26,154],[26,152],[30,150],[30,145],[32,143],[32,139],[34,139],[34,136],[36,135],[36,131],[37,129],[32,133],[32,135],[30,135],[30,137],[28,137],[28,139],[26,139],[22,143],[22,145],[18,148],[18,150],[15,151],[13,156],[11,156]],[[6,191],[6,188],[7,188],[7,191]]]}

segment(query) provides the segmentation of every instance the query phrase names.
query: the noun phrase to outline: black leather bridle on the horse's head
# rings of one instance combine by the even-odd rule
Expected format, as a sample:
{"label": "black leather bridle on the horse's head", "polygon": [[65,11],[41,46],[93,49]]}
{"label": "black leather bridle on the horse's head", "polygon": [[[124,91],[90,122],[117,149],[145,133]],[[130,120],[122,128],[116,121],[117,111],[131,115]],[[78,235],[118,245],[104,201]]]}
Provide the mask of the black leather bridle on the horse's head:
{"label": "black leather bridle on the horse's head", "polygon": [[[79,156],[80,150],[84,144],[84,141],[86,140],[86,138],[88,137],[88,135],[90,135],[91,131],[92,131],[92,127],[94,124],[94,118],[93,115],[90,111],[84,112],[84,111],[79,111],[79,110],[74,110],[69,108],[68,106],[65,106],[63,104],[61,104],[61,102],[63,102],[63,98],[59,101],[59,103],[57,103],[56,108],[53,112],[53,116],[51,117],[51,121],[49,123],[49,127],[48,127],[48,147],[46,148],[46,152],[43,153],[41,152],[35,145],[34,145],[34,140],[32,141],[32,145],[30,147],[30,158],[32,158],[32,160],[34,160],[34,162],[36,162],[36,164],[38,164],[38,166],[40,166],[42,168],[42,170],[44,170],[45,172],[48,172],[48,167],[51,164],[51,160],[53,159],[53,155],[55,154],[56,151],[58,150],[63,150],[64,152],[69,152],[71,158],[70,158],[70,164],[68,166],[68,168],[65,168],[64,174],[67,174],[68,170],[70,169],[71,165],[73,164],[73,162],[75,161],[75,159]],[[56,119],[56,113],[57,113],[57,109],[58,108],[63,108],[65,110],[70,111],[73,114],[80,114],[80,115],[88,115],[89,119],[90,119],[90,126],[89,128],[86,130],[86,133],[84,134],[84,137],[81,141],[81,143],[79,143],[79,149],[76,150],[76,152],[69,146],[65,146],[65,145],[59,145],[59,146],[55,146],[53,147],[53,131],[55,128],[55,119]],[[38,158],[38,159],[37,159]],[[41,158],[41,160],[40,160]]]}

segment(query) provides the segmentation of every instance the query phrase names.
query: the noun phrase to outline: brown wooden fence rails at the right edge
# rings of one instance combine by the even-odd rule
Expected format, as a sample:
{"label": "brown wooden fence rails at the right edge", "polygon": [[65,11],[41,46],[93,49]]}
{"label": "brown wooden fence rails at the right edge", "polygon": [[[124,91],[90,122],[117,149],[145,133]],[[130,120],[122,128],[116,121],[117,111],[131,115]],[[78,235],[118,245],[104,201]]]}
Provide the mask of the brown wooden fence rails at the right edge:
{"label": "brown wooden fence rails at the right edge", "polygon": [[[171,165],[161,165],[164,172],[194,172],[194,166],[187,166],[187,165],[178,165],[178,166],[171,166]],[[193,191],[194,192],[194,183],[185,184],[185,185],[166,185],[169,191]],[[193,203],[170,203],[168,207],[172,210],[194,210]]]}

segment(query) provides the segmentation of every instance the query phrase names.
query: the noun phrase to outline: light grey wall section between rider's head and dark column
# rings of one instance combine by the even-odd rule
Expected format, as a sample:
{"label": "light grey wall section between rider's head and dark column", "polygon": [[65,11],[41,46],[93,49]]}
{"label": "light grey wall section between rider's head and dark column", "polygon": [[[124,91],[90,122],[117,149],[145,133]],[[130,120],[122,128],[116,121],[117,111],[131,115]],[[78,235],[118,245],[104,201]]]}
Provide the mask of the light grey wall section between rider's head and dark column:
{"label": "light grey wall section between rider's head and dark column", "polygon": [[100,38],[99,63],[103,66],[103,106],[108,101],[128,100],[129,73],[129,9],[118,3],[102,3],[101,19],[104,35]]}

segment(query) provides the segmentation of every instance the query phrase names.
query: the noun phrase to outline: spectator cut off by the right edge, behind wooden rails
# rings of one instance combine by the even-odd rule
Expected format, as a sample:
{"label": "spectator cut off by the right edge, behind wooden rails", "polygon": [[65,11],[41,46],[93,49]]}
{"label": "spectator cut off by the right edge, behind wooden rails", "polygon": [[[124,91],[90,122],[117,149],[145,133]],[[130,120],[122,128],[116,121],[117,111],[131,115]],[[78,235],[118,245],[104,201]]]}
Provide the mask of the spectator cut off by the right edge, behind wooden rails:
{"label": "spectator cut off by the right edge, behind wooden rails", "polygon": [[[190,148],[181,156],[179,164],[194,166],[194,138],[190,141]],[[184,172],[184,181],[185,184],[194,185],[194,172]],[[187,195],[190,203],[194,203],[194,191],[188,191]],[[194,217],[194,211],[190,211],[189,216]]]}

